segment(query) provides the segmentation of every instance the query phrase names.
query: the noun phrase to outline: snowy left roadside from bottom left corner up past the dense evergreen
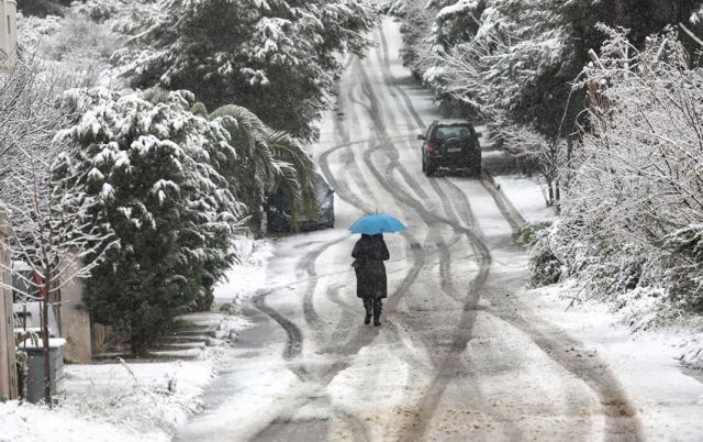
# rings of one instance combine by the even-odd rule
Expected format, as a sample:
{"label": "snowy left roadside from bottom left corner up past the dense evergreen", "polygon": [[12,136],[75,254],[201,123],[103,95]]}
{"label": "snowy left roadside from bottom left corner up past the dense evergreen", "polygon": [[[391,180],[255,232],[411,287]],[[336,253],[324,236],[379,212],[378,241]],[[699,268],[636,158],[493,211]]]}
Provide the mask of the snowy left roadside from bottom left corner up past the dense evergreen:
{"label": "snowy left roadside from bottom left corner up past the dense evergreen", "polygon": [[160,356],[196,356],[192,361],[66,365],[58,407],[0,404],[0,441],[170,441],[202,410],[203,390],[222,368],[227,340],[252,325],[237,302],[263,284],[270,246],[243,239],[237,247],[246,259],[215,288],[213,310],[219,311],[183,318],[212,328],[215,338],[202,349],[160,352]]}

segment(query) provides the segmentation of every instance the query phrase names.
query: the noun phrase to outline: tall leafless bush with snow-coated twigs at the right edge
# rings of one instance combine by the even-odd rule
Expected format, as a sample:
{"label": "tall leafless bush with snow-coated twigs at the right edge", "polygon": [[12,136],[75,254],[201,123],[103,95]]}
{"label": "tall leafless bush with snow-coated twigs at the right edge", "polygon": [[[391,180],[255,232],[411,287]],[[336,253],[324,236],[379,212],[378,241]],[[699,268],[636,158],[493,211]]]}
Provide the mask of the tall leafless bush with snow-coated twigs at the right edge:
{"label": "tall leafless bush with snow-coated twigs at the right edge", "polygon": [[576,85],[589,126],[551,250],[584,297],[628,310],[633,327],[701,314],[703,69],[671,30],[638,51],[601,29],[609,38]]}

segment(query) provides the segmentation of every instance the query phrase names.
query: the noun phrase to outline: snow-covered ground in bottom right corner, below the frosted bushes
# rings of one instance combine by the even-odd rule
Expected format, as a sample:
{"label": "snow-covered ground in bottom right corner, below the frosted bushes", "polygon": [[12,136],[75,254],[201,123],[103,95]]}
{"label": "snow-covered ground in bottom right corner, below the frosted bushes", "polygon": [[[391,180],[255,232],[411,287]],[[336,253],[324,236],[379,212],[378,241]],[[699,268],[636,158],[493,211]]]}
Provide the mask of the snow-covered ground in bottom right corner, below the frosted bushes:
{"label": "snow-covered ground in bottom right corner, below the frosted bushes", "polygon": [[[641,332],[617,325],[604,305],[569,307],[563,286],[528,290],[528,299],[544,317],[593,347],[609,362],[639,412],[645,437],[652,441],[696,441],[703,434],[703,379],[680,366],[681,334]],[[565,311],[566,310],[566,311]]]}

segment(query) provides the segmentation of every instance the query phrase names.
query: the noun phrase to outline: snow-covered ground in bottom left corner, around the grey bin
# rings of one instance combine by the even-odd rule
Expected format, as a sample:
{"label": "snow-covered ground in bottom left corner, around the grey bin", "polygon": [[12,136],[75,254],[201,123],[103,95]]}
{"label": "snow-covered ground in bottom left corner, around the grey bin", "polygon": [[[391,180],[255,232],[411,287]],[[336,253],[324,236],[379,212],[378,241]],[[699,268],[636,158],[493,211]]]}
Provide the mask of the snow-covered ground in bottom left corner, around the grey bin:
{"label": "snow-covered ground in bottom left corner, around the grey bin", "polygon": [[66,365],[59,407],[0,404],[0,441],[169,441],[213,373],[213,360]]}

